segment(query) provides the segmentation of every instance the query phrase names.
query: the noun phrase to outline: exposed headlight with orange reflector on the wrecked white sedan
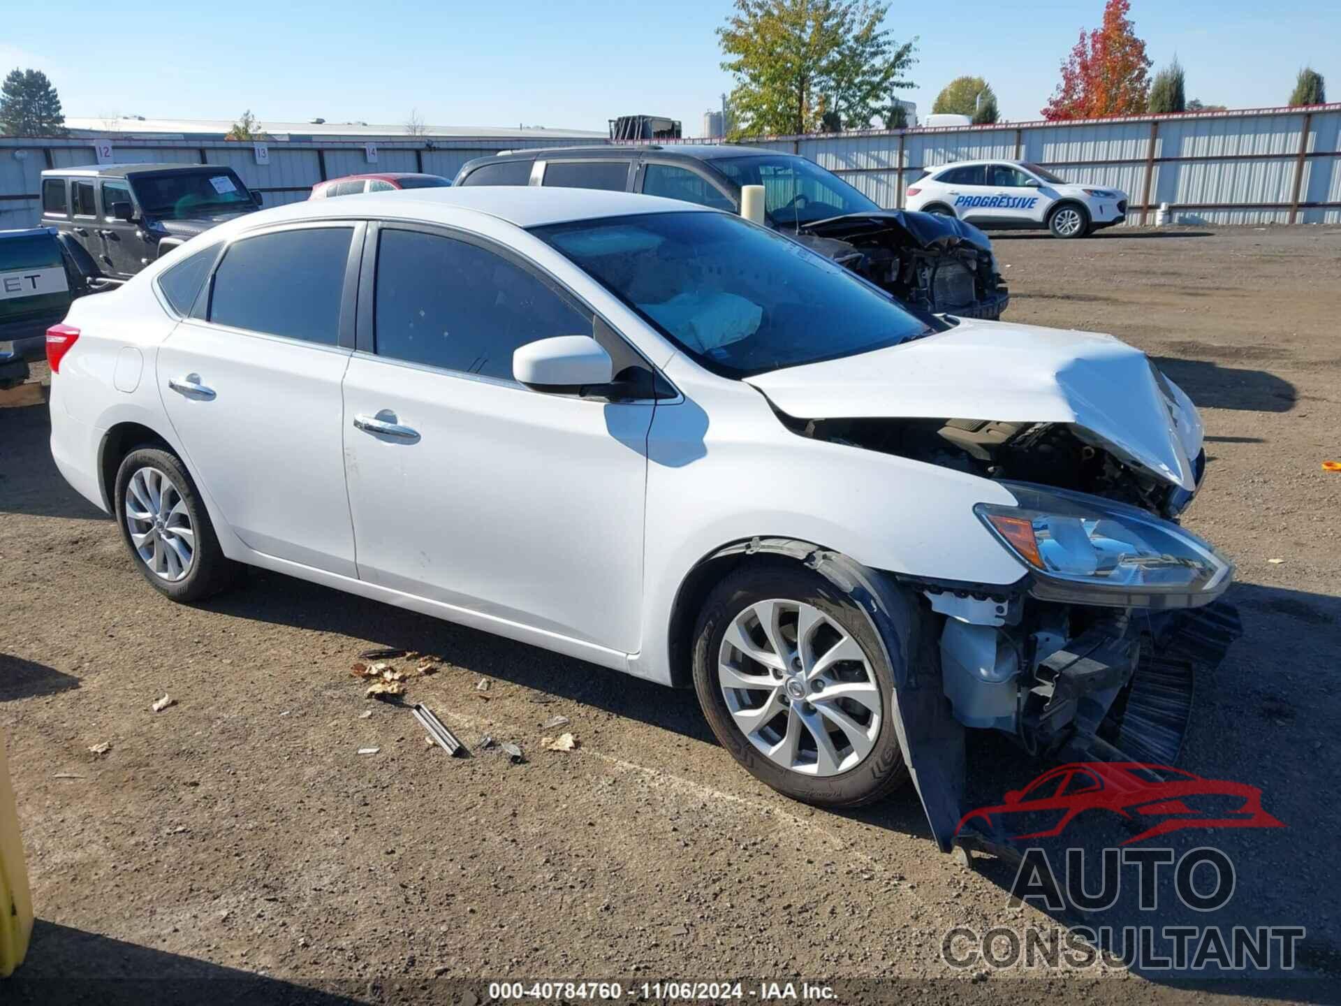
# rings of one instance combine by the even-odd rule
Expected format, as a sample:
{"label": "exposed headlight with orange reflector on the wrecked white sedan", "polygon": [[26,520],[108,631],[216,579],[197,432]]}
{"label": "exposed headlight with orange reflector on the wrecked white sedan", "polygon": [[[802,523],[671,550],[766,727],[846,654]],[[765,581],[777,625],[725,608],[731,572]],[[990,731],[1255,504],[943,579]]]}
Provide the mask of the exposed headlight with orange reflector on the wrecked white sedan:
{"label": "exposed headlight with orange reflector on the wrecked white sedan", "polygon": [[1234,563],[1177,524],[1122,503],[1025,483],[1019,502],[974,511],[1029,566],[1045,601],[1117,608],[1193,608],[1228,588]]}

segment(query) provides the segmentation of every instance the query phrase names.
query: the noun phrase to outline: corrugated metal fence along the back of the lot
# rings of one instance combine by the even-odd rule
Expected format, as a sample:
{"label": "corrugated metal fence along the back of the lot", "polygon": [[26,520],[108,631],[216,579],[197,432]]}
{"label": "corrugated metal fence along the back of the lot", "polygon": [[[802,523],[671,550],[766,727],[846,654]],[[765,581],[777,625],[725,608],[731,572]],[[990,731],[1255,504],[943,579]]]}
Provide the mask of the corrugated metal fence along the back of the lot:
{"label": "corrugated metal fence along the back of the lot", "polygon": [[[0,227],[38,221],[44,168],[93,164],[93,139],[0,137]],[[452,177],[472,157],[522,146],[569,146],[589,139],[394,138],[270,141],[270,164],[251,144],[192,139],[113,139],[113,160],[225,164],[267,205],[307,199],[325,178],[371,170]],[[711,141],[683,141],[711,142]],[[1118,188],[1128,223],[1155,223],[1168,203],[1176,223],[1341,223],[1341,103],[1306,109],[1250,109],[1081,122],[878,130],[751,141],[809,157],[842,176],[881,207],[896,208],[928,170],[984,157],[1022,158],[1067,181]]]}

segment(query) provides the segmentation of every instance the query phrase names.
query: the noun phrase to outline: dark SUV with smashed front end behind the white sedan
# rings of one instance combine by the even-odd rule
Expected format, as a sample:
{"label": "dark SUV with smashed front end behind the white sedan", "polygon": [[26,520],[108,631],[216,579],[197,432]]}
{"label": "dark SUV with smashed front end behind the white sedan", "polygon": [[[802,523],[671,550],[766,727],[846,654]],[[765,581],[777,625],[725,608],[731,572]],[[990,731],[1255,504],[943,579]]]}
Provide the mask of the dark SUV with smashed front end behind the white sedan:
{"label": "dark SUV with smashed front end behind the white sedan", "polygon": [[456,185],[542,185],[695,203],[740,212],[762,185],[764,220],[928,314],[1000,318],[1010,303],[991,240],[952,216],[881,209],[814,161],[747,146],[515,150],[469,161]]}

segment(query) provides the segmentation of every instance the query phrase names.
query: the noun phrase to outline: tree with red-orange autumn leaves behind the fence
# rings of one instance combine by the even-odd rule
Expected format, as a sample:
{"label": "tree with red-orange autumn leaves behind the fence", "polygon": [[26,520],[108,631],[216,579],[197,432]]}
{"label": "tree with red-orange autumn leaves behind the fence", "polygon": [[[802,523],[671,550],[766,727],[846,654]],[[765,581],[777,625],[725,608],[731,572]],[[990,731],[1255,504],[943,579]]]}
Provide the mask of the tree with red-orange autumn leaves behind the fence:
{"label": "tree with red-orange autumn leaves behind the fence", "polygon": [[1045,119],[1055,122],[1145,111],[1151,59],[1126,16],[1130,8],[1128,0],[1108,0],[1102,27],[1088,35],[1081,30],[1075,48],[1062,63],[1062,80],[1043,109]]}

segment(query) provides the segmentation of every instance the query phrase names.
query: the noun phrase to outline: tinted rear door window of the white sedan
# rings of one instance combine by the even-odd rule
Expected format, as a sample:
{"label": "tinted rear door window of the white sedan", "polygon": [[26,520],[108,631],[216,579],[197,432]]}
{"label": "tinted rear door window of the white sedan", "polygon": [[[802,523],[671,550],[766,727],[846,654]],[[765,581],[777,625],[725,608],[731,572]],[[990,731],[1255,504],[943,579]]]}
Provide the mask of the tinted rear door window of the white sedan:
{"label": "tinted rear door window of the white sedan", "polygon": [[323,227],[233,241],[215,272],[209,321],[334,346],[351,233]]}

